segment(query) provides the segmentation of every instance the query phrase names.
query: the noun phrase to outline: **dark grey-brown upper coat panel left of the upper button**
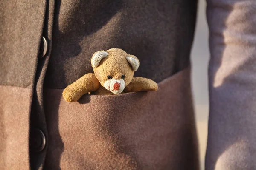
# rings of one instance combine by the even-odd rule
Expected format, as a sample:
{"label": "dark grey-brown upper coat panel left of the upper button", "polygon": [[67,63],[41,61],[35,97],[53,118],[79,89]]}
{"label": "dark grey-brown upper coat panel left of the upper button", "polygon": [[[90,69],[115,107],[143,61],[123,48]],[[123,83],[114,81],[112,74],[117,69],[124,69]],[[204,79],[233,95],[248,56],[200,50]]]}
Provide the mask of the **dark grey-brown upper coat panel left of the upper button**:
{"label": "dark grey-brown upper coat panel left of the upper button", "polygon": [[0,85],[32,88],[46,1],[0,1]]}

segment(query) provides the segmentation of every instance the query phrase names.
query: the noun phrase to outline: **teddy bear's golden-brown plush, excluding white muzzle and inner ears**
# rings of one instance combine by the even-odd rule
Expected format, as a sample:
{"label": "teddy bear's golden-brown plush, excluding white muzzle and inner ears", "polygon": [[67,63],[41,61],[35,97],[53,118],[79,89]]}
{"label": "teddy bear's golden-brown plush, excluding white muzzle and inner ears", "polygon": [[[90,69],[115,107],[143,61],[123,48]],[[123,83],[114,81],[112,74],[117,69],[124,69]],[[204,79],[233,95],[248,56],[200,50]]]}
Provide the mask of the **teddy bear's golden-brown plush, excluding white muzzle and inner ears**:
{"label": "teddy bear's golden-brown plush, excluding white muzzle and inner ears", "polygon": [[[93,57],[98,52],[93,54]],[[93,68],[95,74],[85,74],[83,77],[64,89],[63,98],[67,102],[75,102],[82,95],[89,92],[96,95],[113,94],[111,91],[104,88],[104,83],[108,80],[108,76],[112,76],[113,79],[119,80],[122,79],[122,75],[125,75],[125,78],[123,79],[125,82],[125,89],[122,91],[122,93],[157,90],[157,83],[153,80],[143,77],[133,77],[134,69],[132,65],[127,61],[126,57],[132,57],[133,59],[136,59],[137,63],[139,64],[137,57],[129,55],[125,51],[118,48],[111,48],[106,52],[108,53],[107,57],[101,59],[99,65]]]}

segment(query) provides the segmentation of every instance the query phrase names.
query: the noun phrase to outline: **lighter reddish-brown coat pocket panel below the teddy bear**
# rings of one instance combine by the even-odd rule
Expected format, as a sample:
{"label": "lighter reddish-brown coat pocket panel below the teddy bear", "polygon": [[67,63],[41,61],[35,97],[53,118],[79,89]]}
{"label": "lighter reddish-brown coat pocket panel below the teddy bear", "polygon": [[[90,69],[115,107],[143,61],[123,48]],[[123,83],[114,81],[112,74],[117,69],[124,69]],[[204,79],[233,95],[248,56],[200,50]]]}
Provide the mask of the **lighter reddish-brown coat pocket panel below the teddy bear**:
{"label": "lighter reddish-brown coat pocket panel below the teddy bear", "polygon": [[[76,170],[198,168],[190,68],[158,91],[84,95],[68,103],[45,89],[49,145],[45,166]],[[55,161],[52,161],[55,160]]]}

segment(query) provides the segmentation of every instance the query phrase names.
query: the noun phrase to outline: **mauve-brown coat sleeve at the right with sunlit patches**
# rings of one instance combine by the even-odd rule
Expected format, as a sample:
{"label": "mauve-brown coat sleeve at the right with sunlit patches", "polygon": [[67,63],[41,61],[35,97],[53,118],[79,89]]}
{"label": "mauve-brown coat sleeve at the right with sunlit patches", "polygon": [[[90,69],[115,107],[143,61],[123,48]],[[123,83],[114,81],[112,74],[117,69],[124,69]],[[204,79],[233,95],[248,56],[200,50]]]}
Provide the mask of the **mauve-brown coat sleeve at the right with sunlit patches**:
{"label": "mauve-brown coat sleeve at the right with sunlit patches", "polygon": [[256,169],[256,0],[207,0],[206,170]]}

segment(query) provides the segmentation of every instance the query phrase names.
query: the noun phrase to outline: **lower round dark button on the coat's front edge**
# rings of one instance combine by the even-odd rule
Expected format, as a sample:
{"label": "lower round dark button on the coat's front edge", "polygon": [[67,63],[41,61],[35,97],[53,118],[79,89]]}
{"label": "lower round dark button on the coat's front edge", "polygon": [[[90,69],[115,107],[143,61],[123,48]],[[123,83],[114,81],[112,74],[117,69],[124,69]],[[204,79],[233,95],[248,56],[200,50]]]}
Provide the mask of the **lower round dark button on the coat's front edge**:
{"label": "lower round dark button on the coat's front edge", "polygon": [[38,129],[32,129],[30,133],[30,146],[35,152],[40,152],[44,149],[46,139],[44,133]]}

